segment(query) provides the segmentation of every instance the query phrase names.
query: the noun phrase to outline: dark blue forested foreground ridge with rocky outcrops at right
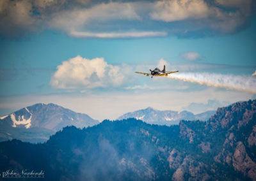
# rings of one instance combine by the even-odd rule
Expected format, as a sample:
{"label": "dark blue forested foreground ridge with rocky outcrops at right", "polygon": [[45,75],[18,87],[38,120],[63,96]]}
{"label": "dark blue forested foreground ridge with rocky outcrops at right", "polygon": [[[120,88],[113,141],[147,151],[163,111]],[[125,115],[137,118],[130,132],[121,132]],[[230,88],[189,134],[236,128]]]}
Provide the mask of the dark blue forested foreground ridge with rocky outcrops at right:
{"label": "dark blue forested foreground ridge with rocky outcrops at right", "polygon": [[47,180],[256,180],[255,154],[256,100],[249,100],[219,108],[208,122],[104,120],[65,127],[42,144],[4,141],[0,171],[43,170]]}

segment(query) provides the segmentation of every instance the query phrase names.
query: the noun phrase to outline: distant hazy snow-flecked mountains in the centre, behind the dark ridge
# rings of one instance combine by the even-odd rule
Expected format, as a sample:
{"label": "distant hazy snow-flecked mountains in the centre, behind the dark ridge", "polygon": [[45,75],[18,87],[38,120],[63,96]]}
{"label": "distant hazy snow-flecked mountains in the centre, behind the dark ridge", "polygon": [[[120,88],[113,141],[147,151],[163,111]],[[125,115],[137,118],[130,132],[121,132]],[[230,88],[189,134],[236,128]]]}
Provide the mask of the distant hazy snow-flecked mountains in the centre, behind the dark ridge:
{"label": "distant hazy snow-flecked mountains in the centre, behind the dark ridge", "polygon": [[135,118],[143,120],[148,124],[159,124],[170,126],[172,124],[179,124],[180,120],[209,120],[216,111],[207,111],[204,113],[194,115],[188,111],[175,112],[175,111],[160,111],[154,108],[146,108],[144,110],[138,110],[135,112],[125,113],[124,115],[118,117],[117,120]]}

